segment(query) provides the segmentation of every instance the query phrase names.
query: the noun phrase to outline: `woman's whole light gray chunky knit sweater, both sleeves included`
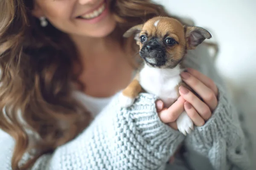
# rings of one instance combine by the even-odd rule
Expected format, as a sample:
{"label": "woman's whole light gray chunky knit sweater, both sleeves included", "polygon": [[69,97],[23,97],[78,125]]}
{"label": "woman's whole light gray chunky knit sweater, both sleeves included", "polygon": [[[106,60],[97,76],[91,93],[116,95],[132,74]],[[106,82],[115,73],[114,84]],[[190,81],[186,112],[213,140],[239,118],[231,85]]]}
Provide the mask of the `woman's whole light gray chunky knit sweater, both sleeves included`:
{"label": "woman's whole light gray chunky knit sweater, both sleeves included", "polygon": [[[33,170],[248,170],[244,134],[237,112],[215,71],[207,49],[189,51],[185,63],[212,78],[218,106],[203,127],[183,136],[157,116],[156,97],[140,94],[130,108],[119,107],[118,95],[89,127],[54,153],[41,156]],[[183,159],[166,164],[180,144]],[[11,170],[14,141],[0,132],[0,170]],[[27,156],[24,156],[24,160]]]}

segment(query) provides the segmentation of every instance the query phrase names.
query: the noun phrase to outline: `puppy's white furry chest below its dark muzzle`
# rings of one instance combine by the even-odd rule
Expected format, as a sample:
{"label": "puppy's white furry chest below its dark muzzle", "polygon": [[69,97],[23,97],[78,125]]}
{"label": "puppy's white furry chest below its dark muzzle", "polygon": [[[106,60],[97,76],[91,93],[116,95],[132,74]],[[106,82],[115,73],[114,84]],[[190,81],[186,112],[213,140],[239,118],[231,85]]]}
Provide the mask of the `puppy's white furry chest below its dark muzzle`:
{"label": "puppy's white furry chest below its dark muzzle", "polygon": [[166,107],[177,99],[177,85],[181,82],[179,67],[173,69],[149,68],[140,71],[140,85],[150,94],[155,94]]}

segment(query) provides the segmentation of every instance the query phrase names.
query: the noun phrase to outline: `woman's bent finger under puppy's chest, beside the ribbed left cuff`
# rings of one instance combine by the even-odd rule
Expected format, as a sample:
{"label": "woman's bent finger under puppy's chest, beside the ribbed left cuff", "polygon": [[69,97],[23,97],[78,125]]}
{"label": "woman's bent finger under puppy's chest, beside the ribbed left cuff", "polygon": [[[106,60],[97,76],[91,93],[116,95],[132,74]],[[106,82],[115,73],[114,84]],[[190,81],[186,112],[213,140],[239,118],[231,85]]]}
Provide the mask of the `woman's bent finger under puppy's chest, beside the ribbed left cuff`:
{"label": "woman's bent finger under puppy's chest, beside the ribbed left cuff", "polygon": [[164,123],[175,122],[175,120],[184,111],[185,100],[179,97],[169,108],[163,108],[158,115],[160,120]]}

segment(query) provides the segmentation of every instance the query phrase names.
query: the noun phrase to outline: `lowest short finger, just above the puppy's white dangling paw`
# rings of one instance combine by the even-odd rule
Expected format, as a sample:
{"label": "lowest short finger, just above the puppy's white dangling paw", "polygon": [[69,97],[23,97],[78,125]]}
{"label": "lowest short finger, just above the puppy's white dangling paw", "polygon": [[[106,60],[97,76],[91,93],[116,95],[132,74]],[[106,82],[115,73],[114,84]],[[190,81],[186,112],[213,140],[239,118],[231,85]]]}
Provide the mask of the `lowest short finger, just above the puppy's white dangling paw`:
{"label": "lowest short finger, just above the puppy's white dangling paw", "polygon": [[189,102],[184,103],[184,108],[190,119],[196,126],[203,126],[204,119],[198,114],[198,112],[193,108],[193,106]]}

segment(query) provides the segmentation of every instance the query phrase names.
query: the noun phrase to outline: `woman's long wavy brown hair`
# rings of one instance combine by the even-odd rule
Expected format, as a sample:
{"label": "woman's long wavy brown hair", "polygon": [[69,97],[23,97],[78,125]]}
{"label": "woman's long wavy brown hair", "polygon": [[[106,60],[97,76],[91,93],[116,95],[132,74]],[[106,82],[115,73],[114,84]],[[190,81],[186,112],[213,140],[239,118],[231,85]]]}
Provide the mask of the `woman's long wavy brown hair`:
{"label": "woman's long wavy brown hair", "polygon": [[[70,82],[79,75],[73,72],[79,59],[76,47],[51,24],[41,27],[32,15],[33,6],[33,0],[0,1],[0,128],[15,139],[13,170],[31,167],[92,120],[72,96]],[[169,16],[150,0],[111,0],[110,9],[123,44],[122,34],[128,28],[154,16]],[[31,132],[38,137],[31,139]],[[32,159],[20,165],[32,150],[36,150]]]}

